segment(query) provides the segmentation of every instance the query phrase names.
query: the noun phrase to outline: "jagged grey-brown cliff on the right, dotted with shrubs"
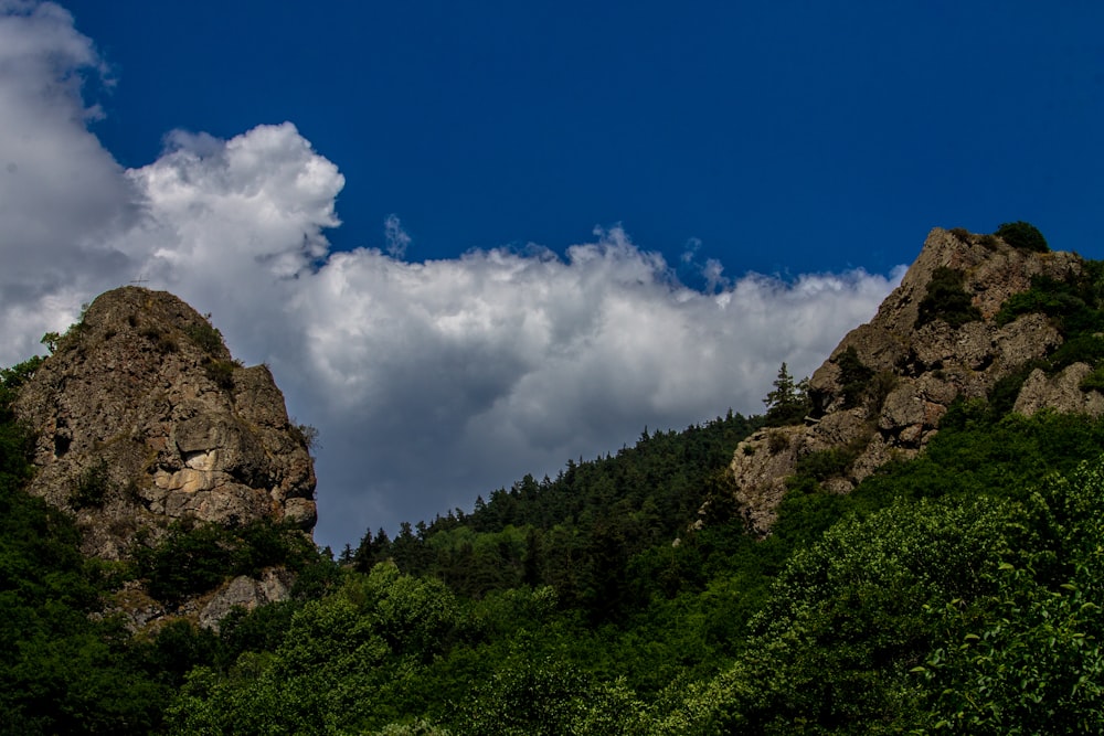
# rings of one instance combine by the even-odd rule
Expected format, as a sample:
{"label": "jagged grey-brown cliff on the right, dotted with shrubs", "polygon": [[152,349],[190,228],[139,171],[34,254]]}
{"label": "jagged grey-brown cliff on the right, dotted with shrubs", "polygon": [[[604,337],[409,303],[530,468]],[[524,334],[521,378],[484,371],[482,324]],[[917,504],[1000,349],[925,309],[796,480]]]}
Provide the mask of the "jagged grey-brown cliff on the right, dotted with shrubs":
{"label": "jagged grey-brown cliff on the right, dotted with shrubs", "polygon": [[[732,462],[736,501],[751,530],[769,532],[798,459],[840,450],[847,469],[824,486],[846,493],[885,461],[915,456],[956,398],[985,397],[1000,378],[1053,351],[1062,337],[1043,314],[1025,314],[1002,327],[994,317],[1010,296],[1027,291],[1033,277],[1065,279],[1080,274],[1082,264],[1071,253],[1017,249],[992,236],[933,230],[877,316],[843,338],[813,374],[806,424],[764,429],[737,447]],[[947,269],[960,276],[976,310],[973,318],[957,327],[938,318],[917,321],[933,278]],[[853,375],[847,375],[856,365],[864,378],[858,395]],[[1054,377],[1032,374],[1016,410],[1051,406],[1098,415],[1104,397],[1078,388],[1089,370],[1076,364]]]}

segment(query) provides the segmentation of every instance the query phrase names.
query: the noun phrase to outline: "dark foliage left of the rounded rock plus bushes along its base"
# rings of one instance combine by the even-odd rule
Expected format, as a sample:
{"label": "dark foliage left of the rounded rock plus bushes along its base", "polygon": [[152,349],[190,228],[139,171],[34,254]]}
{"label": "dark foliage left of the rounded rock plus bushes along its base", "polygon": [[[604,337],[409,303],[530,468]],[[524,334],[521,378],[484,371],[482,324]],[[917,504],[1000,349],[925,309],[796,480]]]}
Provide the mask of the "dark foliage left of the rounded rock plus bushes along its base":
{"label": "dark foliage left of the rounded rock plus bushes along its base", "polygon": [[[215,534],[233,553],[229,566],[220,567],[217,555],[189,558],[183,527],[139,555],[140,570],[86,558],[72,516],[23,488],[33,472],[32,444],[11,404],[40,363],[33,359],[0,371],[0,734],[159,732],[183,674],[214,662],[229,647],[184,620],[169,623],[153,639],[134,638],[110,615],[113,590],[137,574],[147,575],[159,593],[177,593],[172,586],[181,579],[205,590],[226,575],[273,562],[298,562],[302,583],[317,583],[319,554],[289,550],[295,540],[304,541],[299,534],[254,525]],[[96,505],[105,482],[103,466],[93,466],[78,479],[71,501]],[[210,545],[202,550],[203,555],[212,551]],[[206,587],[194,587],[201,575],[192,565],[206,570]]]}

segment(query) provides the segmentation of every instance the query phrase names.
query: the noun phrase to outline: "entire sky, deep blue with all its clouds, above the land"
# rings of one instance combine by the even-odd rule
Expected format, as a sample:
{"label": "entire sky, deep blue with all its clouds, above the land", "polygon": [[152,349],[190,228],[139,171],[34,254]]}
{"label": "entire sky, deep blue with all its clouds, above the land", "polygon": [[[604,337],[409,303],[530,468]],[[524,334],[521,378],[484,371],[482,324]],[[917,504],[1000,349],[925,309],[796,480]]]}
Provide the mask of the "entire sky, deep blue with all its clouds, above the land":
{"label": "entire sky, deep blue with all its clouds, above the land", "polygon": [[[1059,3],[1051,3],[1059,6]],[[0,363],[139,275],[336,548],[762,409],[934,226],[1104,257],[1104,4],[0,0]]]}

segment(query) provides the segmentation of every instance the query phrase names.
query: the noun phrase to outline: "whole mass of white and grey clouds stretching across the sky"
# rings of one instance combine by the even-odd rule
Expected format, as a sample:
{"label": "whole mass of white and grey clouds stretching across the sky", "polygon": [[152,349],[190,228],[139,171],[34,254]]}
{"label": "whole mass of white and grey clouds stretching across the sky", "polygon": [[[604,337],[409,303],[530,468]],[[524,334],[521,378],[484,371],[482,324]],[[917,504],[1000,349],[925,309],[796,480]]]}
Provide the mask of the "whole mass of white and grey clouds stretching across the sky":
{"label": "whole mass of white and grey clouds stretching across the sky", "polygon": [[212,312],[321,433],[320,543],[470,508],[645,425],[760,412],[783,361],[811,372],[900,277],[726,278],[708,260],[691,288],[620,226],[562,256],[408,263],[395,215],[383,249],[332,252],[343,178],[294,125],[171,132],[124,170],[86,127],[91,42],[56,7],[0,11],[0,362],[138,274]]}

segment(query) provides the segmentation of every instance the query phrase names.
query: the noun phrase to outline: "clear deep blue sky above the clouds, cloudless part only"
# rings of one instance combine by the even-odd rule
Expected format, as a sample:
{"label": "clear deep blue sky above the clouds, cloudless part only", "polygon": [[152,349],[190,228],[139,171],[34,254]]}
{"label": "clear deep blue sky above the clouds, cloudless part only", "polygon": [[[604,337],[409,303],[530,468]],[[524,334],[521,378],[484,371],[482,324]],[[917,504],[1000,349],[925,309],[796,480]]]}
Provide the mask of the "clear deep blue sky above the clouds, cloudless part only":
{"label": "clear deep blue sky above the clouds, cloudless part only", "polygon": [[[336,247],[410,257],[622,223],[672,262],[888,271],[935,225],[1098,247],[1098,2],[70,2],[126,166],[290,120]],[[871,236],[873,235],[873,236]]]}

